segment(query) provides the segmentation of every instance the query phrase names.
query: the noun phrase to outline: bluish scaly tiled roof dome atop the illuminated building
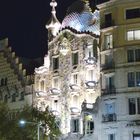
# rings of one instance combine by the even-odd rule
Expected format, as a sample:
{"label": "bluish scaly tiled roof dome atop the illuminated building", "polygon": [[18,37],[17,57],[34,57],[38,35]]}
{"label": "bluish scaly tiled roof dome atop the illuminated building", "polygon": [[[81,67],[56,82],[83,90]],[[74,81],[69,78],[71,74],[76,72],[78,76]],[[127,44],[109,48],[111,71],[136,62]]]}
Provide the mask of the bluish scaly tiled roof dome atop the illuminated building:
{"label": "bluish scaly tiled roof dome atop the illuminated building", "polygon": [[99,26],[99,11],[92,13],[88,2],[77,0],[69,7],[61,28],[70,27],[78,32],[99,35]]}

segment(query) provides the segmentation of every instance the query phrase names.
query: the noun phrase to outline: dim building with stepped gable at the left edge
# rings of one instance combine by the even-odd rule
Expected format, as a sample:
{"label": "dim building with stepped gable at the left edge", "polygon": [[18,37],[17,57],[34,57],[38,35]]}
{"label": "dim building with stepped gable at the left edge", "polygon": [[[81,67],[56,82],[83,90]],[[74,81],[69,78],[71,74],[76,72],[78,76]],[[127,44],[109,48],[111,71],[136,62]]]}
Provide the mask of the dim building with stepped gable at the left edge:
{"label": "dim building with stepped gable at the left edge", "polygon": [[32,104],[33,81],[26,75],[8,39],[0,40],[0,101],[8,104],[11,112]]}

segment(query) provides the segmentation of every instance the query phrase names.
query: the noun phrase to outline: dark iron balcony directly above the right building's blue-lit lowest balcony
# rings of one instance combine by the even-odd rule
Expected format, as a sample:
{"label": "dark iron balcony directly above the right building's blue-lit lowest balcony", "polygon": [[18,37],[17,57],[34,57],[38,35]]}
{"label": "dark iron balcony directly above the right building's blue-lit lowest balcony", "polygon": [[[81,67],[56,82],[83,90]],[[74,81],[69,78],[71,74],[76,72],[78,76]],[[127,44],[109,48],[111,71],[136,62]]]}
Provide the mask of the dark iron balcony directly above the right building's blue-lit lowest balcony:
{"label": "dark iron balcony directly above the right building's blue-lit lowest balcony", "polygon": [[106,89],[102,89],[101,90],[101,95],[105,96],[105,95],[116,95],[116,88],[110,87],[110,88],[106,88]]}

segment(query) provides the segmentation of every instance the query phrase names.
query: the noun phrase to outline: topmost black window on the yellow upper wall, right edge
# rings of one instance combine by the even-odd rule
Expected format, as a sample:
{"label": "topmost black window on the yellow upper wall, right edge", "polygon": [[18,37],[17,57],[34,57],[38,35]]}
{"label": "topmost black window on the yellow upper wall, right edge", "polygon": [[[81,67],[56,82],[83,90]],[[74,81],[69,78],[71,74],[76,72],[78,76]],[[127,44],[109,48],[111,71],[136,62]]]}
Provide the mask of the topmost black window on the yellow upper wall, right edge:
{"label": "topmost black window on the yellow upper wall, right edge", "polygon": [[127,9],[126,19],[140,18],[140,8]]}

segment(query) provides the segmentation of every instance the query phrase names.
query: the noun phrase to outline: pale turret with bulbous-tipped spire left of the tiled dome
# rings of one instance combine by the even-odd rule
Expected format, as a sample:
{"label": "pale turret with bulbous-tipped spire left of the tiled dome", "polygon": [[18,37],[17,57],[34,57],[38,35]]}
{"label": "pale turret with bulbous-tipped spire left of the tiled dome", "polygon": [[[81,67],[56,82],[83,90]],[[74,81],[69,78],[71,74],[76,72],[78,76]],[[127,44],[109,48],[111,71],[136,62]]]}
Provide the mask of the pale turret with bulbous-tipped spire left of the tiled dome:
{"label": "pale turret with bulbous-tipped spire left of the tiled dome", "polygon": [[52,0],[50,3],[50,6],[52,7],[52,16],[50,20],[48,21],[46,28],[48,29],[48,39],[51,40],[53,37],[55,37],[60,29],[61,23],[58,21],[56,17],[56,10],[55,7],[57,6],[57,2],[55,0]]}

